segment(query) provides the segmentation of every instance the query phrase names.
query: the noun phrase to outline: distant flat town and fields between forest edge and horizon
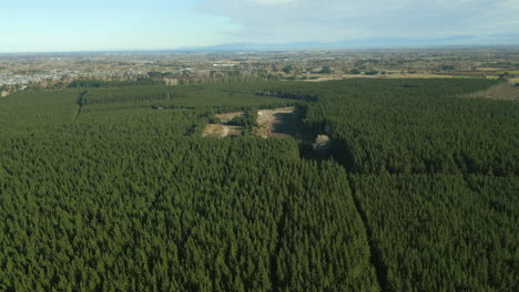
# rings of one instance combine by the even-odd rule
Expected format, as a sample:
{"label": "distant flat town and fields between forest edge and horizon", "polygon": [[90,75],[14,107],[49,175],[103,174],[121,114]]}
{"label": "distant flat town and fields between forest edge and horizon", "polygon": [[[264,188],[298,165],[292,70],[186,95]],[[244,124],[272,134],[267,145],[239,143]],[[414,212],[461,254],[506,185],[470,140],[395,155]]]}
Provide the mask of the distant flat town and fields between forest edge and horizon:
{"label": "distant flat town and fields between forest edge and horizon", "polygon": [[515,49],[406,49],[271,52],[98,52],[0,54],[2,96],[61,88],[75,80],[162,80],[164,84],[350,77],[513,79]]}

